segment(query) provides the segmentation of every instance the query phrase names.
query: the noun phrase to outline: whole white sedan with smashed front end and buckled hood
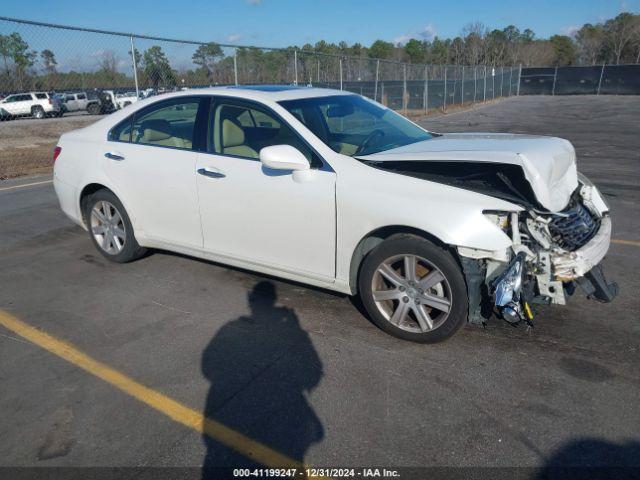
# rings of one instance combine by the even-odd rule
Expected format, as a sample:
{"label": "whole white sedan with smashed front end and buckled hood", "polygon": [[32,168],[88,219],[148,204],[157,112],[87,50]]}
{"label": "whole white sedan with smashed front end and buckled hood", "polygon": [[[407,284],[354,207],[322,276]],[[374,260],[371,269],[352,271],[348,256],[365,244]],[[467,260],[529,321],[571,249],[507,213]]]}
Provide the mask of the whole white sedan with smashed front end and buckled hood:
{"label": "whole white sedan with smashed front end and buckled hood", "polygon": [[617,293],[611,221],[571,144],[436,134],[343,91],[190,90],[64,134],[62,210],[114,262],[165,249],[359,295],[417,342]]}

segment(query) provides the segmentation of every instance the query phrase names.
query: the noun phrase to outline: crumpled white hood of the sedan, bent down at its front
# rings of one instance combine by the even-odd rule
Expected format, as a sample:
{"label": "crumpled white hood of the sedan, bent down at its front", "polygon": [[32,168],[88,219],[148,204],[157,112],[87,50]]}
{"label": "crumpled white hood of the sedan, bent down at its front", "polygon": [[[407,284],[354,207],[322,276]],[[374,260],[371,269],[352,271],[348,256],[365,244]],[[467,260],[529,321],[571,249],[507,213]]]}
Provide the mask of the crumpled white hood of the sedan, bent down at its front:
{"label": "crumpled white hood of the sedan, bent down at its front", "polygon": [[556,137],[496,133],[449,133],[361,160],[490,162],[519,165],[540,205],[552,212],[566,207],[578,187],[575,150]]}

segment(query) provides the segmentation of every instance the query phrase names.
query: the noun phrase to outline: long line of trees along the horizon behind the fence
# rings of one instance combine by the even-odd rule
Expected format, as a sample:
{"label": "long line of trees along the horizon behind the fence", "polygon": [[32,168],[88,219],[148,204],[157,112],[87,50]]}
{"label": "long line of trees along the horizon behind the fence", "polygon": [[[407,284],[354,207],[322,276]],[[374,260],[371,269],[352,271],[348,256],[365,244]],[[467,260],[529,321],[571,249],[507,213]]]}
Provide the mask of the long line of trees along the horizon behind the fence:
{"label": "long line of trees along the horizon behind the fence", "polygon": [[[294,50],[297,65],[293,65]],[[123,52],[124,54],[124,52]],[[126,52],[135,59],[139,84],[176,87],[240,83],[290,83],[297,71],[301,83],[367,81],[375,75],[375,59],[413,65],[573,66],[640,63],[640,15],[620,13],[597,24],[587,23],[571,35],[537,38],[531,29],[509,25],[488,29],[479,22],[466,25],[455,38],[411,38],[404,43],[376,40],[371,45],[323,40],[314,45],[268,50],[239,47],[225,54],[217,43],[199,45],[191,57],[193,68],[175,68],[160,45]],[[342,59],[342,60],[339,60]],[[101,53],[90,72],[59,72],[56,54],[33,50],[17,33],[0,34],[0,91],[28,89],[130,88],[132,69],[118,68],[115,52]],[[396,66],[382,62],[381,79],[400,79]],[[129,73],[131,72],[131,73]],[[395,77],[395,78],[393,78]]]}

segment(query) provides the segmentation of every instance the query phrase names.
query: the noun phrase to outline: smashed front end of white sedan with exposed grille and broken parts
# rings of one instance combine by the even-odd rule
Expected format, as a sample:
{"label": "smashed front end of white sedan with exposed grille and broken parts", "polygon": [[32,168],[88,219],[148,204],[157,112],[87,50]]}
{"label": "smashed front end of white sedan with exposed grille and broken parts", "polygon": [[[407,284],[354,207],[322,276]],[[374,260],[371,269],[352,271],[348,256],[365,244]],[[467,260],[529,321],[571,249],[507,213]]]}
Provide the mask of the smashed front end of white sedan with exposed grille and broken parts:
{"label": "smashed front end of white sedan with exposed grille and broken parts", "polygon": [[609,208],[584,176],[569,204],[552,213],[484,212],[512,241],[506,251],[458,247],[467,276],[469,320],[484,323],[497,312],[510,323],[532,324],[532,304],[564,305],[581,288],[588,298],[610,302],[618,287],[600,262],[611,241]]}

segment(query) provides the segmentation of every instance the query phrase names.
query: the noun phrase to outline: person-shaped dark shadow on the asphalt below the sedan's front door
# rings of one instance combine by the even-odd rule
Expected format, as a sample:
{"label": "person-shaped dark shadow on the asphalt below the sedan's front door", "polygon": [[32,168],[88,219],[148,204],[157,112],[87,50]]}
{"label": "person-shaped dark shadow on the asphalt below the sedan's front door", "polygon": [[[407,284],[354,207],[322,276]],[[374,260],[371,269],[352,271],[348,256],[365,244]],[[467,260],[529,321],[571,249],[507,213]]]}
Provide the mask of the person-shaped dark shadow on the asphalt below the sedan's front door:
{"label": "person-shaped dark shadow on the asphalt below the sedan's front door", "polygon": [[[272,282],[258,282],[248,301],[251,314],[225,324],[203,352],[202,373],[211,382],[204,416],[302,464],[324,437],[307,400],[322,362],[295,312],[276,305]],[[202,478],[264,467],[206,434],[203,441]]]}

